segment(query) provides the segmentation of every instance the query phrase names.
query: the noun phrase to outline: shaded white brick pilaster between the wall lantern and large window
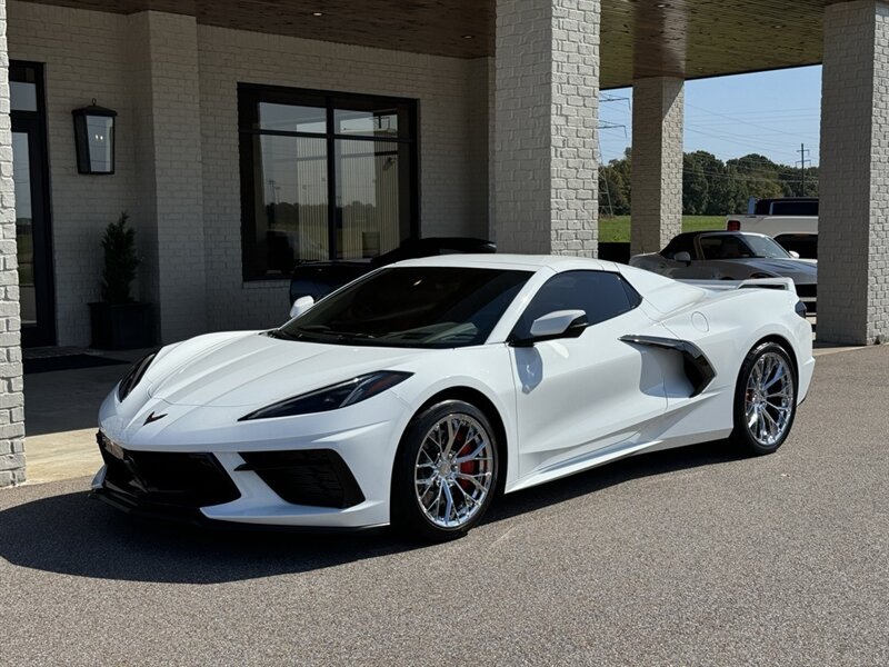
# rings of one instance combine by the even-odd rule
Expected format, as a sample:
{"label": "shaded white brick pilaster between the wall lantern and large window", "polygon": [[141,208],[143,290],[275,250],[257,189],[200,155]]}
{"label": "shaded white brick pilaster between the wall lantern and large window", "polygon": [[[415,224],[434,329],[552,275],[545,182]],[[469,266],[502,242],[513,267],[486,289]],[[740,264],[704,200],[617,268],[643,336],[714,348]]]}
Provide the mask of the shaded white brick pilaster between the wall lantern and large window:
{"label": "shaded white brick pilaster between the wall lantern and large window", "polygon": [[144,11],[129,17],[129,37],[140,283],[172,342],[207,331],[198,26]]}

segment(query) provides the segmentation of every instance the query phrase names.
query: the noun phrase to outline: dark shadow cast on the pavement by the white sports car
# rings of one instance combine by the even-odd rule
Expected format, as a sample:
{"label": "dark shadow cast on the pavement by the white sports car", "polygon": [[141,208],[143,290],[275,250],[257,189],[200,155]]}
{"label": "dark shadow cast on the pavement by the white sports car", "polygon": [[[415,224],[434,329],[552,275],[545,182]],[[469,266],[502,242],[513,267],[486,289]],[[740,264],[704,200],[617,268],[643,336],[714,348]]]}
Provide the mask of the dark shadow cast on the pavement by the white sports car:
{"label": "dark shadow cast on the pavement by the white sports car", "polygon": [[[618,461],[497,499],[487,524],[650,475],[735,460],[710,442]],[[51,573],[167,584],[220,584],[298,574],[419,548],[388,529],[351,534],[211,530],[127,516],[87,492],[0,511],[0,558]]]}

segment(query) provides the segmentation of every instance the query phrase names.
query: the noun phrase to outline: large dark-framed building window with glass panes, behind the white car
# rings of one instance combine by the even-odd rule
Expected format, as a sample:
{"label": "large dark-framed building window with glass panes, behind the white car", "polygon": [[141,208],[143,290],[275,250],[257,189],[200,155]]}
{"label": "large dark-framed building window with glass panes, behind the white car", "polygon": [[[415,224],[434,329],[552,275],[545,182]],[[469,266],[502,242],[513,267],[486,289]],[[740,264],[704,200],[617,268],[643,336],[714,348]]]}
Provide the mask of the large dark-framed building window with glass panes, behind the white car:
{"label": "large dark-framed building window with glass panes, behind the white car", "polygon": [[238,86],[246,280],[416,236],[412,100]]}

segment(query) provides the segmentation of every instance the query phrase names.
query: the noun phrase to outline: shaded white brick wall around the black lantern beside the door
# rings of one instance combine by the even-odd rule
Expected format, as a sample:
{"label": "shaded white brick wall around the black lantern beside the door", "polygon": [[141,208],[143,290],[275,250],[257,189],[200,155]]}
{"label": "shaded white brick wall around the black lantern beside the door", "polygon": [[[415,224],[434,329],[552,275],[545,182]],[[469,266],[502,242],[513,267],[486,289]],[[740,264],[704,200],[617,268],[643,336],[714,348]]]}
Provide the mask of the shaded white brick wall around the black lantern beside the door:
{"label": "shaded white brick wall around the black lantern beside the door", "polygon": [[[87,302],[99,298],[102,231],[127,209],[142,248],[141,228],[151,215],[137,210],[133,196],[127,18],[14,0],[8,7],[10,58],[46,63],[58,340],[87,345]],[[71,110],[92,98],[118,111],[113,176],[77,173]]]}

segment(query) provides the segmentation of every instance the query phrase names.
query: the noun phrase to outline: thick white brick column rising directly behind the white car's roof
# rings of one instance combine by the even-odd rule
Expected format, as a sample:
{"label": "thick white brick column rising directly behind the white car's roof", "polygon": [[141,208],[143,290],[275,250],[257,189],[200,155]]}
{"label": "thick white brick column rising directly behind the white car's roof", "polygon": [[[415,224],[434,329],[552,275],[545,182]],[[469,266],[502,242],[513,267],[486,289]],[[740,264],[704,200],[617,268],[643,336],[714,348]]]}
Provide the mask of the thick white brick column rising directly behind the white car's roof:
{"label": "thick white brick column rising directly behind the white car's roof", "polygon": [[599,0],[497,0],[501,252],[597,251],[599,20]]}

